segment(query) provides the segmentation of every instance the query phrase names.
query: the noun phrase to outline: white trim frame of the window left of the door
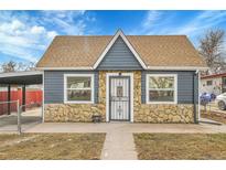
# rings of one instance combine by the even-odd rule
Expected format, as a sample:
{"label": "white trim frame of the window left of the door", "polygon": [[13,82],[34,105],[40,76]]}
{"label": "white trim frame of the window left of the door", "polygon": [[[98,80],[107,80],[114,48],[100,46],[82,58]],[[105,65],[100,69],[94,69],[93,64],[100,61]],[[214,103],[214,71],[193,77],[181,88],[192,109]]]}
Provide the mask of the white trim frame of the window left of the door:
{"label": "white trim frame of the window left of the door", "polygon": [[[90,84],[92,86],[90,88],[87,88],[92,91],[92,100],[67,100],[67,77],[92,77],[92,84]],[[95,82],[94,74],[64,74],[64,103],[65,104],[94,104],[94,91],[95,91],[94,82]]]}

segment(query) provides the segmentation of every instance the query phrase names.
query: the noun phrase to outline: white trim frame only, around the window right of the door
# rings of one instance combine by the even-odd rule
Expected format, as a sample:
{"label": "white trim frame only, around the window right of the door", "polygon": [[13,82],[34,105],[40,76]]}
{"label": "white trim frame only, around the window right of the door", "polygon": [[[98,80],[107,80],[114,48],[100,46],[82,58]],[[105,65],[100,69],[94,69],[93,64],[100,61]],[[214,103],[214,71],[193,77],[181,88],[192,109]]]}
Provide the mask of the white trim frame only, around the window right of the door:
{"label": "white trim frame only, around the window right of the door", "polygon": [[[173,102],[150,102],[149,100],[149,77],[150,76],[158,76],[158,77],[165,77],[165,76],[173,76],[174,77],[174,100]],[[177,74],[147,74],[146,75],[146,103],[147,104],[177,104]]]}

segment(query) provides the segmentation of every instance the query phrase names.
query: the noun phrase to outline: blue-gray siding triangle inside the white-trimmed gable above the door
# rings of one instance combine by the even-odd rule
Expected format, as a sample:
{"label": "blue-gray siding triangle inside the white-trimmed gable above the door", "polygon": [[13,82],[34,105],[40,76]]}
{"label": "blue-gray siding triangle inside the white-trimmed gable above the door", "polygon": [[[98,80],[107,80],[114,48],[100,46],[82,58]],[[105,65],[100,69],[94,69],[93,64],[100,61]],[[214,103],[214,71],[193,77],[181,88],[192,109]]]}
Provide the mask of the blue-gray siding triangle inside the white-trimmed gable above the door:
{"label": "blue-gray siding triangle inside the white-trimmed gable above the door", "polygon": [[106,56],[100,62],[98,70],[142,70],[136,56],[119,36]]}

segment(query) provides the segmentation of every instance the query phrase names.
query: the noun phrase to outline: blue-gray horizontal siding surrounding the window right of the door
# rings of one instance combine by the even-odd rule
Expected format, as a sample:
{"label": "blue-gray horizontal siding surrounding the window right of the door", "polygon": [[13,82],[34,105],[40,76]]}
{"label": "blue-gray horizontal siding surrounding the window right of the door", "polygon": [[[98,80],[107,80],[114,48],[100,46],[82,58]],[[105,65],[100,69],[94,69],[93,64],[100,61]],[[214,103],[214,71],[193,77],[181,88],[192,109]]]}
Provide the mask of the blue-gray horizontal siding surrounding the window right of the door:
{"label": "blue-gray horizontal siding surrounding the window right of the door", "polygon": [[[177,74],[177,103],[193,104],[194,103],[194,72],[160,72],[160,71],[143,71],[141,76],[141,100],[146,103],[146,75],[147,74]],[[196,92],[196,91],[195,91]],[[197,93],[197,92],[196,92]],[[197,95],[196,95],[197,96]]]}

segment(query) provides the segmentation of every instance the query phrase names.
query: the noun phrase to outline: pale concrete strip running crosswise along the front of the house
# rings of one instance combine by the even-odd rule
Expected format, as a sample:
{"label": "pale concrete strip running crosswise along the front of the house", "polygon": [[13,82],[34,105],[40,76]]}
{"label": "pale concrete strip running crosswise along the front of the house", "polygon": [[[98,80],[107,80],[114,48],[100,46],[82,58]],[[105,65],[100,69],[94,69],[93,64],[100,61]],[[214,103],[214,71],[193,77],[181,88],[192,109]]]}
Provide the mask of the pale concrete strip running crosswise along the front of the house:
{"label": "pale concrete strip running crosswise along the front of the house", "polygon": [[226,132],[226,125],[211,124],[130,124],[130,123],[44,123],[24,132]]}

